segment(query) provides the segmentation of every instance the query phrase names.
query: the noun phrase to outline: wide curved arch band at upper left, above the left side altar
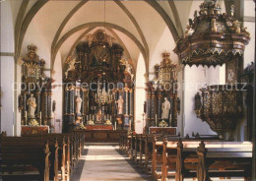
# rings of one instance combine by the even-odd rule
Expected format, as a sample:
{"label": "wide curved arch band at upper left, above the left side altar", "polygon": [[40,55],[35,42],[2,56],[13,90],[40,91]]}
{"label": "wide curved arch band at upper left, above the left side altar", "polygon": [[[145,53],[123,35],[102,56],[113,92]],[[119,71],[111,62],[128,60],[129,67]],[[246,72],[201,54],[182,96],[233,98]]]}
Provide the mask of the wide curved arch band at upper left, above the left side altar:
{"label": "wide curved arch band at upper left, above the left side altar", "polygon": [[24,40],[24,36],[26,34],[26,31],[28,30],[29,25],[32,22],[32,18],[34,17],[34,15],[40,10],[40,8],[45,5],[45,3],[47,3],[48,0],[37,0],[31,10],[29,11],[29,13],[26,15],[23,24],[21,26],[21,30],[20,30],[20,34],[19,34],[19,38],[17,39],[16,47],[15,47],[15,57],[19,57],[21,54],[21,48],[22,48],[22,44],[23,44],[23,40]]}

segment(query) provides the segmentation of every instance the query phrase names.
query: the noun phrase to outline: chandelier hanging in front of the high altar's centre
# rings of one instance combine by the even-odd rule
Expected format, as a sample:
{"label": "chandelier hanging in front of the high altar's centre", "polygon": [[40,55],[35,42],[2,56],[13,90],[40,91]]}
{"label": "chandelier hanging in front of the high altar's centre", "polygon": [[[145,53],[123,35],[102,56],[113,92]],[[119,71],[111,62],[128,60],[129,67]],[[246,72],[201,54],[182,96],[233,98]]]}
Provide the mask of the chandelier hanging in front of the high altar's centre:
{"label": "chandelier hanging in front of the high altar's centre", "polygon": [[99,89],[97,86],[96,89],[96,103],[99,105],[103,105],[105,103],[110,103],[113,101],[113,93],[111,91],[105,91],[105,88]]}

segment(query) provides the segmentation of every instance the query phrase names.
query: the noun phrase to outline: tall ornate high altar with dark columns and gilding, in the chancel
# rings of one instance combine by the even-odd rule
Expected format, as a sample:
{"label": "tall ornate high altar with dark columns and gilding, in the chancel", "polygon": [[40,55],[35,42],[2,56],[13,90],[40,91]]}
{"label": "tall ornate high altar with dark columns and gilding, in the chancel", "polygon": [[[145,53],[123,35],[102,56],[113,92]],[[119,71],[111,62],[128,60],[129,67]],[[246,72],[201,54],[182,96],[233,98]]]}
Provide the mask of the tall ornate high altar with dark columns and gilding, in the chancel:
{"label": "tall ornate high altar with dark columns and gilding, in the chancel", "polygon": [[113,41],[96,30],[66,60],[63,132],[133,127],[132,66]]}

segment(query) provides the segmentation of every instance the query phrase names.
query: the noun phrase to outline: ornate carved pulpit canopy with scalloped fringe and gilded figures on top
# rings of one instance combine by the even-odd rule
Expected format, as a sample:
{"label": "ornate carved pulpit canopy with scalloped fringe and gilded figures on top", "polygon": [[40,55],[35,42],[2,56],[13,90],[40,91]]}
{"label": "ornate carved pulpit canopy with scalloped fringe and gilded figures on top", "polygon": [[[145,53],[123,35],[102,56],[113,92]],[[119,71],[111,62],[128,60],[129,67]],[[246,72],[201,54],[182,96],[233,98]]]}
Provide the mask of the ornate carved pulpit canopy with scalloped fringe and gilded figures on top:
{"label": "ornate carved pulpit canopy with scalloped fringe and gilded figures on top", "polygon": [[200,5],[199,15],[189,19],[185,36],[177,41],[174,52],[184,65],[217,66],[232,61],[234,56],[242,56],[250,33],[230,14],[222,14],[216,1]]}

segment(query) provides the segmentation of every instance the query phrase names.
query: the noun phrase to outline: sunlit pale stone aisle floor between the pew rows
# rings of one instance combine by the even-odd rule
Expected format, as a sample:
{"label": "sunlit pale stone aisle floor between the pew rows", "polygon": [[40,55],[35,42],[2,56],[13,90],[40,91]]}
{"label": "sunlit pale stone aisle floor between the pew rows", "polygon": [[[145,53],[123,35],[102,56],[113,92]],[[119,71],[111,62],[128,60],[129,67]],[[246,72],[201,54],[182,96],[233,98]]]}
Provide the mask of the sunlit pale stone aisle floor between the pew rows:
{"label": "sunlit pale stone aisle floor between the pew rows", "polygon": [[151,180],[137,172],[126,154],[120,154],[117,144],[86,144],[85,151],[71,175],[71,181]]}

